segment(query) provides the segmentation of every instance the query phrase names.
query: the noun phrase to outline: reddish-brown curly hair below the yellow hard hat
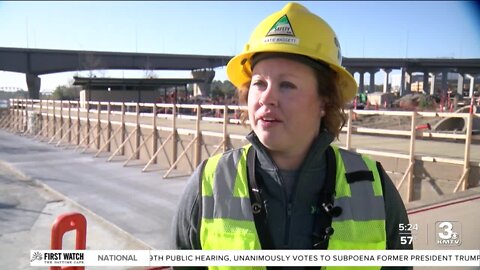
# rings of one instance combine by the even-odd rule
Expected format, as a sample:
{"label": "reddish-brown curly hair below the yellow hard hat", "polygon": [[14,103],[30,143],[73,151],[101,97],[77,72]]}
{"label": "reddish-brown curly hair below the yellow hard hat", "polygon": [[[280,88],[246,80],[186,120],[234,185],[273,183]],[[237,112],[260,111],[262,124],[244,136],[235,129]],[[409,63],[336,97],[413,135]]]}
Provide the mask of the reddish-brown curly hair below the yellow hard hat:
{"label": "reddish-brown curly hair below the yellow hard hat", "polygon": [[[342,127],[345,125],[346,116],[343,110],[342,93],[338,83],[338,74],[330,68],[314,68],[318,84],[318,95],[325,100],[325,116],[322,118],[321,130],[328,132],[338,138]],[[240,87],[238,99],[240,105],[248,104],[248,91],[250,82]],[[240,119],[243,126],[247,126],[248,111],[242,111]]]}

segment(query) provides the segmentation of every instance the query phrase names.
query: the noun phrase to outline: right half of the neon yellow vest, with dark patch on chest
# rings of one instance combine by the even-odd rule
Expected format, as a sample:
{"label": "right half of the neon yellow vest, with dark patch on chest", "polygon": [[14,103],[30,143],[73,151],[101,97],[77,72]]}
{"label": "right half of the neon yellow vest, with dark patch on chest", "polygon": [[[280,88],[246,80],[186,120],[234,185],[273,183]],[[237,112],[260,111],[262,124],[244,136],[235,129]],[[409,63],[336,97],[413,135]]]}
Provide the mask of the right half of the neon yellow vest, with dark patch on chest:
{"label": "right half of the neon yellow vest, with dark patch on chest", "polygon": [[[334,233],[328,241],[328,249],[386,249],[385,203],[380,173],[375,161],[336,146],[332,148],[337,161],[334,205],[342,208],[342,214],[332,219]],[[349,184],[345,174],[358,171],[371,171],[373,181],[359,179]],[[355,267],[355,269],[380,268]],[[351,268],[335,266],[322,269]]]}

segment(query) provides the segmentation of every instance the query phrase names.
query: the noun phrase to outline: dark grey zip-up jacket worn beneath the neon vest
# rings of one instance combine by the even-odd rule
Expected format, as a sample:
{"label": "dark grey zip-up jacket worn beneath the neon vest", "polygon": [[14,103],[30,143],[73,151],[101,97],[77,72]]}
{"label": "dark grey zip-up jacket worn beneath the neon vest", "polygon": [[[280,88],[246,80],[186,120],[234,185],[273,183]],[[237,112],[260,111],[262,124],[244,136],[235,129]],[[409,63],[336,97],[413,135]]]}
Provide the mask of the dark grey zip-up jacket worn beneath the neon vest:
{"label": "dark grey zip-up jacket worn beneath the neon vest", "polygon": [[[279,169],[265,147],[253,132],[247,139],[256,151],[255,170],[262,178],[262,199],[266,204],[268,230],[274,248],[311,249],[314,229],[314,215],[311,209],[317,205],[318,196],[325,182],[327,171],[325,152],[334,137],[322,132],[313,142],[298,171],[290,200],[287,199],[283,188],[284,183]],[[201,167],[199,166],[190,177],[174,218],[174,249],[201,249],[199,240]],[[399,224],[409,222],[403,201],[381,166],[380,170],[386,208],[387,249],[412,249],[412,245],[400,243],[398,233]]]}

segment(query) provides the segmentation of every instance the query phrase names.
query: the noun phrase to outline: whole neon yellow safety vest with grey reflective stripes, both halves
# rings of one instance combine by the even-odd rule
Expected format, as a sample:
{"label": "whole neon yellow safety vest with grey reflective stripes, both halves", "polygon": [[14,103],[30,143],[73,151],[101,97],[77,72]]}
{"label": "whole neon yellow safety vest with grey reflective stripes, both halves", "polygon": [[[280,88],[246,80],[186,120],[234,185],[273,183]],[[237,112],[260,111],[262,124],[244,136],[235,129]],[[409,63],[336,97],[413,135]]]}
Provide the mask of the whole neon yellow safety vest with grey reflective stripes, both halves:
{"label": "whole neon yellow safety vest with grey reflective stripes, both halves", "polygon": [[[200,225],[200,244],[204,250],[261,249],[248,190],[246,164],[250,147],[248,144],[218,154],[205,164]],[[342,214],[332,220],[335,232],[330,236],[328,249],[386,249],[385,207],[375,162],[332,148],[337,166],[334,205],[342,207]],[[367,170],[373,173],[374,181],[347,182],[345,173]]]}

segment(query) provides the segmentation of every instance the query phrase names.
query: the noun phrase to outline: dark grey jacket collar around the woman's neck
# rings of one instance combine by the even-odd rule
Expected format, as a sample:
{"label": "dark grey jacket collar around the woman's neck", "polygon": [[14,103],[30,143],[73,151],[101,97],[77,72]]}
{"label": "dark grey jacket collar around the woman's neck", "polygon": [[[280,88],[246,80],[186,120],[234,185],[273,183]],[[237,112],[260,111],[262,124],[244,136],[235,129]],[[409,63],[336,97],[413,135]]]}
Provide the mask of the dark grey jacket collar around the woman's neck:
{"label": "dark grey jacket collar around the woman's neck", "polygon": [[[260,142],[257,135],[252,131],[247,135],[247,140],[257,152],[260,167],[266,171],[278,171],[278,167],[268,153],[267,148]],[[322,131],[313,141],[307,156],[300,166],[300,170],[317,169],[324,161],[324,153],[335,137],[328,131]]]}

